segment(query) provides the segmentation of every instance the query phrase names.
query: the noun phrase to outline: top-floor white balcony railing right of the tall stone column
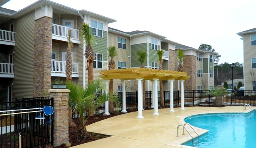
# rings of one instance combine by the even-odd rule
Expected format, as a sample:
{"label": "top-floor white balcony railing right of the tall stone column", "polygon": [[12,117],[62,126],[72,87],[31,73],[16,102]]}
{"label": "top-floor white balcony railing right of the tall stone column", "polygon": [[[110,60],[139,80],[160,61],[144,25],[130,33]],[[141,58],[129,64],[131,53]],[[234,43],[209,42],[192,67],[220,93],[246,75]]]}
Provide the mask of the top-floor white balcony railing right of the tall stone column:
{"label": "top-floor white balcony railing right of the tall stone column", "polygon": [[53,24],[52,34],[60,37],[67,37],[68,30],[71,30],[70,38],[74,40],[79,40],[79,30],[74,28],[69,28],[66,26]]}

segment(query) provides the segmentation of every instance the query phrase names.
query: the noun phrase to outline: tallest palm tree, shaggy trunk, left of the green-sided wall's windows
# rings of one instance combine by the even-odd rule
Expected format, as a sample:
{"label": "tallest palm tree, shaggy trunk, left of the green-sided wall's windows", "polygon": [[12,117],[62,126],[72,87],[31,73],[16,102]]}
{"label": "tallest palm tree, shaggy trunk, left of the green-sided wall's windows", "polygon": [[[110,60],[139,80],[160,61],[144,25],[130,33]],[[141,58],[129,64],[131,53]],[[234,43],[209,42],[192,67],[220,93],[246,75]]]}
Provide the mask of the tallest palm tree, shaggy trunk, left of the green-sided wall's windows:
{"label": "tallest palm tree, shaggy trunk, left of the green-sided wall's windows", "polygon": [[[86,70],[88,70],[88,83],[90,83],[93,81],[93,61],[95,57],[91,44],[91,40],[93,40],[94,36],[91,34],[88,23],[84,23],[82,25],[82,37],[84,38],[86,43],[84,56],[87,60]],[[91,105],[93,108],[93,104]],[[89,109],[89,112],[92,116],[94,116],[94,112],[92,112],[92,110]]]}

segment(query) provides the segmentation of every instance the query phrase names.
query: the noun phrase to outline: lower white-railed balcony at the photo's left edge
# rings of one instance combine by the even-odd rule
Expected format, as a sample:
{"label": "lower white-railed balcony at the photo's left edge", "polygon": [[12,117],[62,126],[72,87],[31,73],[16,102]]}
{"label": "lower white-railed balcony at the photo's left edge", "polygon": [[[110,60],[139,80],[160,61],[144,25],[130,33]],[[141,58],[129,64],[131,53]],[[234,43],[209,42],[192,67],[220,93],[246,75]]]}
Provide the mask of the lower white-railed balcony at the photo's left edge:
{"label": "lower white-railed balcony at the photo's left edge", "polygon": [[14,78],[14,64],[0,63],[0,78]]}

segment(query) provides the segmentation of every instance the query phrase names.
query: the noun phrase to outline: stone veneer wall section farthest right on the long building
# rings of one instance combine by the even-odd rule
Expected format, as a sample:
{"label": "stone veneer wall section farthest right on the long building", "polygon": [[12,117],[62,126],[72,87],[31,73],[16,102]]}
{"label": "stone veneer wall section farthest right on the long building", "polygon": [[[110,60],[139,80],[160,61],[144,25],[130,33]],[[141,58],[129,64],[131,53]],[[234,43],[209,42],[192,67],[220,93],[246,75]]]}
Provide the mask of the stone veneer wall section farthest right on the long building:
{"label": "stone veneer wall section farthest right on the long building", "polygon": [[196,57],[194,55],[184,55],[183,67],[184,72],[187,72],[187,76],[190,79],[184,81],[184,90],[196,90]]}

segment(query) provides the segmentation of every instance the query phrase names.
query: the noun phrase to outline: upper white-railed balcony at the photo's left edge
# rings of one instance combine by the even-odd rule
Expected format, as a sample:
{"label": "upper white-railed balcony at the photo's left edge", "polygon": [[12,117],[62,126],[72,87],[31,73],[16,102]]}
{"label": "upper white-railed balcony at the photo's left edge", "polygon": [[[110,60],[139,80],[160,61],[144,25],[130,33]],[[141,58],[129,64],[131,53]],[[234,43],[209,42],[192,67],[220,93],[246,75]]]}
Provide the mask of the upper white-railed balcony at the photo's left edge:
{"label": "upper white-railed balcony at the photo's left edge", "polygon": [[15,32],[0,30],[0,44],[15,46]]}

